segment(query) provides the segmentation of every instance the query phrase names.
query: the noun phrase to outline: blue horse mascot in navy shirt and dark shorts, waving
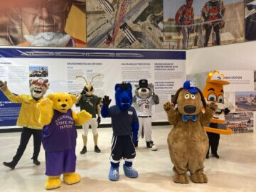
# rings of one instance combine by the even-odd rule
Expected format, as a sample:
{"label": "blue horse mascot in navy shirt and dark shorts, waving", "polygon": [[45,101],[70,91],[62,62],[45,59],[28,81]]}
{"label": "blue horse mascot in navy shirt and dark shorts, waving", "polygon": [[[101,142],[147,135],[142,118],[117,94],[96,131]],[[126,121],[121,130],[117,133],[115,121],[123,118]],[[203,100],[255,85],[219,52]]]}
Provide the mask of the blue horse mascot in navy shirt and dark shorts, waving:
{"label": "blue horse mascot in navy shirt and dark shorts, waving", "polygon": [[109,107],[111,99],[104,96],[102,101],[102,117],[111,117],[113,137],[110,154],[111,181],[119,180],[119,163],[124,159],[124,174],[136,178],[138,172],[132,167],[136,156],[134,142],[137,142],[139,119],[132,107],[132,85],[130,83],[117,84],[114,87],[116,105]]}

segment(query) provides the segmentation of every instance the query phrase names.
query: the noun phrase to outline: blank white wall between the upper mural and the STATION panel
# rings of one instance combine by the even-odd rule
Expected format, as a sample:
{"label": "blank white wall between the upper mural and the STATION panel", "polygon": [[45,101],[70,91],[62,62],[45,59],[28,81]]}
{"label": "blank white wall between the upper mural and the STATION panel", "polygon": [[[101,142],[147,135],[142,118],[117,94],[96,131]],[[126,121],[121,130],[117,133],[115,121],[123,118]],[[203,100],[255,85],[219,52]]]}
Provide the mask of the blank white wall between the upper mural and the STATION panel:
{"label": "blank white wall between the upper mural and the STATION panel", "polygon": [[186,74],[210,70],[256,70],[256,41],[186,51]]}

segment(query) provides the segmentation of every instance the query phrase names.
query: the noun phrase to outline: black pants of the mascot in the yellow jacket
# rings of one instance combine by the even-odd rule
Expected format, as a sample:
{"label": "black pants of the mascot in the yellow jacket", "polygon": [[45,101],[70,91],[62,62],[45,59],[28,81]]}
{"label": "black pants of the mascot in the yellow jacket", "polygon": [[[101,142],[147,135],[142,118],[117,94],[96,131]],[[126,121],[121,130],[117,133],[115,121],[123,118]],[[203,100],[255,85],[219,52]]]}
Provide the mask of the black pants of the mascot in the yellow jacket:
{"label": "black pants of the mascot in the yellow jacket", "polygon": [[18,161],[21,159],[21,156],[23,155],[23,152],[25,151],[28,141],[32,134],[34,145],[32,159],[38,159],[38,154],[40,152],[42,142],[42,130],[23,127],[23,131],[21,132],[21,141],[18,146],[16,155],[14,156],[14,159],[12,161],[15,165],[18,164]]}

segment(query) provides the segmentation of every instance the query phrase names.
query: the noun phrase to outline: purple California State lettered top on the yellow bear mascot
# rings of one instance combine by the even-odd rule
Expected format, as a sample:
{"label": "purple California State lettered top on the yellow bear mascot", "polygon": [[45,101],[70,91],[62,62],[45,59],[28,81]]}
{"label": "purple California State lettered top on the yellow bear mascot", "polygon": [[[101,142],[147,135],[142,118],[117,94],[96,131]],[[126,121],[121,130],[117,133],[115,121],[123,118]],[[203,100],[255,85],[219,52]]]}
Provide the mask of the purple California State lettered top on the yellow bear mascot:
{"label": "purple California State lettered top on the yellow bear mascot", "polygon": [[43,148],[47,152],[75,149],[77,137],[72,110],[67,113],[54,110],[52,121],[43,127]]}

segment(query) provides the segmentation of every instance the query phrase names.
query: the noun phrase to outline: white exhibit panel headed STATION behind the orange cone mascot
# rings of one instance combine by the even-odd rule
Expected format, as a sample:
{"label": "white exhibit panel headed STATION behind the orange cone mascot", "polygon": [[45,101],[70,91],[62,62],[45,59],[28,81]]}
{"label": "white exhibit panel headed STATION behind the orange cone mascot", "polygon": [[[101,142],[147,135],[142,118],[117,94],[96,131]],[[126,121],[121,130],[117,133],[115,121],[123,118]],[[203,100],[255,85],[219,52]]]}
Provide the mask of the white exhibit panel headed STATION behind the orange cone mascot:
{"label": "white exhibit panel headed STATION behind the orange cone mascot", "polygon": [[[225,114],[226,128],[233,133],[255,132],[255,71],[254,70],[220,70],[224,80],[230,82],[223,86],[224,105],[232,104],[230,113]],[[208,73],[187,75],[188,80],[196,82],[203,89]],[[220,130],[220,134],[223,130]]]}

